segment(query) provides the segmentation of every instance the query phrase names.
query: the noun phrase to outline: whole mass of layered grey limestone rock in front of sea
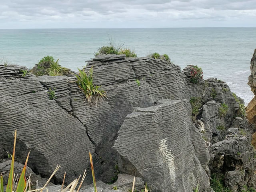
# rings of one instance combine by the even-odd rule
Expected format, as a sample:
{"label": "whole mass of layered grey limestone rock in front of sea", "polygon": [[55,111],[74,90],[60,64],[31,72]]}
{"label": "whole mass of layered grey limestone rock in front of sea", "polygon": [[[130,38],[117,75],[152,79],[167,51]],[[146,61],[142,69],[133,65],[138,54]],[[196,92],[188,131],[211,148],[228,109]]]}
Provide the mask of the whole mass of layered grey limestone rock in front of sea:
{"label": "whole mass of layered grey limestone rock in front of sea", "polygon": [[[72,76],[22,76],[24,67],[0,66],[0,151],[11,151],[17,128],[18,160],[31,150],[28,166],[42,176],[60,164],[56,183],[65,171],[70,182],[89,168],[90,151],[103,182],[135,170],[156,192],[191,192],[197,185],[212,192],[213,173],[234,191],[254,187],[253,127],[235,118],[239,103],[224,82],[193,84],[192,66],[181,70],[148,57],[96,56],[85,70],[92,66],[94,84],[108,97],[97,106],[88,106]],[[203,101],[193,121],[192,97]],[[222,104],[228,106],[224,116]],[[239,171],[244,174],[235,181]],[[86,178],[92,182],[90,172]]]}

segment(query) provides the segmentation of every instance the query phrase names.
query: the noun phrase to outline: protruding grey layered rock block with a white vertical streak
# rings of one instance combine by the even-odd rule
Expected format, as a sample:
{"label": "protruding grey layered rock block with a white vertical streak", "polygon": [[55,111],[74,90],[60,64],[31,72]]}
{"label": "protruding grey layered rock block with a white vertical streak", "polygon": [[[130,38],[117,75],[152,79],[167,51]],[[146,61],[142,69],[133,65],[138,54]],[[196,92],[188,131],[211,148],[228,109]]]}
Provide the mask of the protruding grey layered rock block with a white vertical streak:
{"label": "protruding grey layered rock block with a white vertical streak", "polygon": [[162,100],[156,106],[136,108],[126,116],[118,132],[114,148],[126,160],[119,167],[129,169],[126,167],[129,161],[154,186],[154,191],[191,191],[199,178],[206,183],[201,187],[210,191],[206,172],[198,171],[201,166],[192,140],[197,140],[201,147],[199,155],[206,156],[203,161],[209,161],[209,154],[204,140],[189,121],[186,102]]}

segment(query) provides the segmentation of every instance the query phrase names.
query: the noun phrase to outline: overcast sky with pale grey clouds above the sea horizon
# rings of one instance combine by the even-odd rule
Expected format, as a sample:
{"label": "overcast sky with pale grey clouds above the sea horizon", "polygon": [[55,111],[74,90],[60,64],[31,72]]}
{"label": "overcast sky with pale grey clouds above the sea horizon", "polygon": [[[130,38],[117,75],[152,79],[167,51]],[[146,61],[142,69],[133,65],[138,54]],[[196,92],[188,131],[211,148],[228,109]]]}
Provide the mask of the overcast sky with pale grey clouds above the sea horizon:
{"label": "overcast sky with pale grey clouds above the sea horizon", "polygon": [[0,0],[0,28],[256,26],[256,0]]}

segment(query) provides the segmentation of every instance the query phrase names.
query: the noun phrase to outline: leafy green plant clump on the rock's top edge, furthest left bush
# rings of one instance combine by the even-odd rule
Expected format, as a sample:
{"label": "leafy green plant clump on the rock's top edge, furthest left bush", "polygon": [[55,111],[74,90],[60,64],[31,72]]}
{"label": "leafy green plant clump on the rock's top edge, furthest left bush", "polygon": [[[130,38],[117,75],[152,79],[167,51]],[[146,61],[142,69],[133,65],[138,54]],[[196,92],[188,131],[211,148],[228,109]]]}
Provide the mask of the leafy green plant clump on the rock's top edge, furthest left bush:
{"label": "leafy green plant clump on the rock's top edge, furthest left bush", "polygon": [[49,76],[63,76],[70,72],[70,69],[60,66],[52,56],[45,56],[42,58],[36,68],[33,68],[31,72],[36,76],[49,75]]}

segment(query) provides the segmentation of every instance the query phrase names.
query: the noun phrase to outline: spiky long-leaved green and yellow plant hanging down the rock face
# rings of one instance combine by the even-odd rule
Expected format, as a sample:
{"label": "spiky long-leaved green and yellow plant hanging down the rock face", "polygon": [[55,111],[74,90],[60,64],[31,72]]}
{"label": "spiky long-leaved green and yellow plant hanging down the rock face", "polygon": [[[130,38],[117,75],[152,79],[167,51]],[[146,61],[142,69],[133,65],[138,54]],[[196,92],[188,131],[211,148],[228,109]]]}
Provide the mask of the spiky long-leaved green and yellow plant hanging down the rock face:
{"label": "spiky long-leaved green and yellow plant hanging down the rock face", "polygon": [[100,90],[99,85],[94,85],[93,81],[93,68],[91,67],[88,74],[84,70],[79,70],[78,75],[74,74],[77,78],[76,84],[81,89],[81,92],[86,96],[87,104],[95,106],[100,100],[104,100],[106,92]]}

